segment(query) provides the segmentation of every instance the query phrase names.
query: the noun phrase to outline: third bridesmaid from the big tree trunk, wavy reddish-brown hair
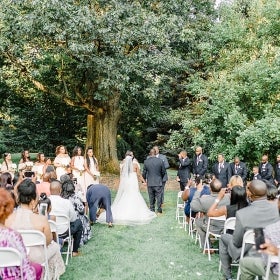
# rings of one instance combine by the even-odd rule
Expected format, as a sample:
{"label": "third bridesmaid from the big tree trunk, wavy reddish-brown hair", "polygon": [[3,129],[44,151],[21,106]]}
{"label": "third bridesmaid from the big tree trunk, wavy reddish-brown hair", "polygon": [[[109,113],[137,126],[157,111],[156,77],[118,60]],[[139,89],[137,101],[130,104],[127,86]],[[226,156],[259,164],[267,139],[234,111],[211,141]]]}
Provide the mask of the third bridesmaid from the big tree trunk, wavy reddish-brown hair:
{"label": "third bridesmaid from the big tree trunk, wavy reddish-brown hair", "polygon": [[56,177],[60,180],[60,177],[64,174],[67,174],[67,167],[70,166],[71,159],[68,155],[67,149],[63,145],[56,147],[55,151],[56,157],[54,159],[54,166],[56,167]]}

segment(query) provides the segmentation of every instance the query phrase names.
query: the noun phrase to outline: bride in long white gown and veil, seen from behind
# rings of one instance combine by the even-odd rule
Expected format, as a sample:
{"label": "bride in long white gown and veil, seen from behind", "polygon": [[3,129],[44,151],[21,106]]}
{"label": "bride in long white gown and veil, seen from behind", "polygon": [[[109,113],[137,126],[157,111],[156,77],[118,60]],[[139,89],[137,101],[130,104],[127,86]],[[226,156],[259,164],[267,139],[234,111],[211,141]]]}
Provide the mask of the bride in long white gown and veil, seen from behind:
{"label": "bride in long white gown and veil, seen from behind", "polygon": [[[138,178],[145,182],[140,166],[131,151],[126,152],[126,157],[120,165],[120,185],[116,198],[111,206],[113,223],[117,225],[142,225],[148,224],[156,214],[149,210],[142,197]],[[105,222],[105,213],[98,218],[98,222]]]}

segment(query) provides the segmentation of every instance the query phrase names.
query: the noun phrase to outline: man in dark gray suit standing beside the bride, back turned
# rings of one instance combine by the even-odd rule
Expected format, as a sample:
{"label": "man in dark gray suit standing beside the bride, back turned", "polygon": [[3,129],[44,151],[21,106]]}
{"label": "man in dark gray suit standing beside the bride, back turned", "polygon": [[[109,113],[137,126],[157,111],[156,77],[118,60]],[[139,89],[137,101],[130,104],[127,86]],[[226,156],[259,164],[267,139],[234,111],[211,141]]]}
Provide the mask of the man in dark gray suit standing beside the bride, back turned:
{"label": "man in dark gray suit standing beside the bride, back turned", "polygon": [[162,183],[165,174],[166,170],[163,161],[157,158],[155,150],[151,149],[150,156],[144,161],[142,175],[148,186],[150,210],[155,211],[155,202],[157,201],[158,213],[162,213]]}

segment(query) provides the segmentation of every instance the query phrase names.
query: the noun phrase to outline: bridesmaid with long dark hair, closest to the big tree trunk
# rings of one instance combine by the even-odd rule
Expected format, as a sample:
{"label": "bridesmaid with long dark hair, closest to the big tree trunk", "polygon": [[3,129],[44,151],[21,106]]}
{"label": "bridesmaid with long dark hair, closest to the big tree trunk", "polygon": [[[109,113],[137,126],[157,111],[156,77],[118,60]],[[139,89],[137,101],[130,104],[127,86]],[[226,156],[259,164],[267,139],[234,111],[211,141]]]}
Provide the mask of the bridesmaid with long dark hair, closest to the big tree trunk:
{"label": "bridesmaid with long dark hair, closest to the big tree trunk", "polygon": [[93,155],[93,148],[88,147],[86,150],[85,160],[85,186],[99,183],[100,172],[98,171],[98,161]]}

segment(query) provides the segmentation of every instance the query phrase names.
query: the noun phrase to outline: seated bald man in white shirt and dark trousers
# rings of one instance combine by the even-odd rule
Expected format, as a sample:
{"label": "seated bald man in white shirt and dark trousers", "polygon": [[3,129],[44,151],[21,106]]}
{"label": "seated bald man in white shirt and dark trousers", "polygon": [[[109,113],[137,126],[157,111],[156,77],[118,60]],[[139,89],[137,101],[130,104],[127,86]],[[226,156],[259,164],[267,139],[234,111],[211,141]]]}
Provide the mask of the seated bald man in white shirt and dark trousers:
{"label": "seated bald man in white shirt and dark trousers", "polygon": [[[60,181],[52,181],[50,185],[50,191],[50,200],[52,202],[52,211],[50,214],[55,216],[65,215],[70,219],[71,234],[74,238],[72,255],[73,257],[76,257],[79,255],[79,247],[83,234],[82,222],[80,219],[78,219],[75,209],[70,200],[62,198],[60,196],[62,191]],[[59,237],[66,238],[68,236],[68,228],[66,225],[60,231],[64,232],[64,234],[61,234]]]}

